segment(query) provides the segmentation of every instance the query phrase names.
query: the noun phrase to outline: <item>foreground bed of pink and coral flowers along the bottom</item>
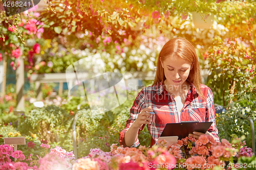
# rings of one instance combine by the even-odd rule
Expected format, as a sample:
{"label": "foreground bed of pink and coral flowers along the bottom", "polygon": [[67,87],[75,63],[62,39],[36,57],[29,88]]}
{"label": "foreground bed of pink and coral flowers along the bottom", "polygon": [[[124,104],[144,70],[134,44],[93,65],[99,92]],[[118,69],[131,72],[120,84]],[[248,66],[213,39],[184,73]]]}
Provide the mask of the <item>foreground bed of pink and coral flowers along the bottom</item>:
{"label": "foreground bed of pink and coral flowers along the bottom", "polygon": [[[194,141],[196,145],[192,145]],[[162,140],[161,146],[155,145],[152,148],[142,145],[138,148],[118,147],[114,143],[110,152],[91,149],[88,156],[77,160],[73,151],[67,152],[60,147],[50,149],[48,144],[41,144],[45,149],[44,157],[37,156],[38,159],[33,160],[30,155],[26,159],[22,151],[13,152],[11,146],[2,144],[0,169],[255,169],[255,156],[241,138],[233,138],[231,143],[226,139],[216,142],[211,136],[201,135],[198,140],[186,137],[163,147],[165,142]],[[181,153],[186,148],[190,150],[190,155],[183,158]],[[17,161],[13,162],[10,157]]]}

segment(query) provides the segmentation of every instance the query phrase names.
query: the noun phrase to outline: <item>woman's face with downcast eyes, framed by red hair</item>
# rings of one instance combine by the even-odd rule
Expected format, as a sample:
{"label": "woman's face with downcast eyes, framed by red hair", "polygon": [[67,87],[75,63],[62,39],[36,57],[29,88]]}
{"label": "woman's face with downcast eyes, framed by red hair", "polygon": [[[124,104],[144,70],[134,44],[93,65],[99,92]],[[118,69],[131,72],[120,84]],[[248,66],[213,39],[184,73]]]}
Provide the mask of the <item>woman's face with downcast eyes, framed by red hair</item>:
{"label": "woman's face with downcast eyes, framed by red hair", "polygon": [[188,61],[178,56],[167,57],[161,65],[164,69],[164,75],[168,85],[174,87],[181,86],[189,75],[193,66]]}

